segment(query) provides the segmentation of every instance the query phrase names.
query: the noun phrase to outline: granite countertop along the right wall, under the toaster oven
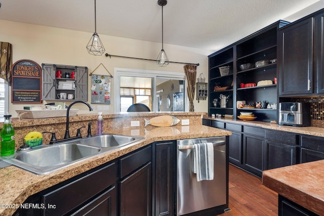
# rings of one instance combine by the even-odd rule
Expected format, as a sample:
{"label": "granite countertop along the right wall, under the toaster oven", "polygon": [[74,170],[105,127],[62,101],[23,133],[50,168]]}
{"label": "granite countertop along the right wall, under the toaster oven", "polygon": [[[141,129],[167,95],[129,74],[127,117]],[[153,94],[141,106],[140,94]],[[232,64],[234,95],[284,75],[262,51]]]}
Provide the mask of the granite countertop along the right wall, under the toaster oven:
{"label": "granite countertop along the right wall, under the toaster oven", "polygon": [[279,125],[276,123],[264,122],[264,121],[245,121],[245,120],[236,120],[231,118],[211,118],[204,116],[204,119],[210,119],[215,121],[227,122],[227,123],[236,123],[244,124],[248,126],[258,126],[265,129],[274,129],[277,131],[291,132],[296,134],[312,135],[317,137],[324,137],[324,128],[323,127],[294,127],[289,125]]}

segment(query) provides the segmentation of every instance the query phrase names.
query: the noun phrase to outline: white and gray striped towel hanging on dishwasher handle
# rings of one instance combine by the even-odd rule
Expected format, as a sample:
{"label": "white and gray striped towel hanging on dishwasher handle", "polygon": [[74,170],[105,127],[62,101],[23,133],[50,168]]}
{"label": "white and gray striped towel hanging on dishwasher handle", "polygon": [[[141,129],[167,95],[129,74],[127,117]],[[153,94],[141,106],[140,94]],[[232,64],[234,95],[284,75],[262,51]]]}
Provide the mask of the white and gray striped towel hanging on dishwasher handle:
{"label": "white and gray striped towel hanging on dishwasher handle", "polygon": [[193,172],[197,182],[214,179],[214,145],[213,143],[194,144]]}

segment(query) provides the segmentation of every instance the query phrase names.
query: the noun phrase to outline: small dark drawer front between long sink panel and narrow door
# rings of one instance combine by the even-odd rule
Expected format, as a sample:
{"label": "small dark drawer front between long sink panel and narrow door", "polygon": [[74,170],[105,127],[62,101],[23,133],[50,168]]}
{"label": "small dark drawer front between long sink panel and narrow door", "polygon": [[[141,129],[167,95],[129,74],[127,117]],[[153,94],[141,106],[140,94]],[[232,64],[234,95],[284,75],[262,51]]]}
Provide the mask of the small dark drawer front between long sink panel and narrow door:
{"label": "small dark drawer front between long sink panel and narrow door", "polygon": [[120,178],[124,178],[138,167],[152,160],[152,147],[145,147],[120,159]]}

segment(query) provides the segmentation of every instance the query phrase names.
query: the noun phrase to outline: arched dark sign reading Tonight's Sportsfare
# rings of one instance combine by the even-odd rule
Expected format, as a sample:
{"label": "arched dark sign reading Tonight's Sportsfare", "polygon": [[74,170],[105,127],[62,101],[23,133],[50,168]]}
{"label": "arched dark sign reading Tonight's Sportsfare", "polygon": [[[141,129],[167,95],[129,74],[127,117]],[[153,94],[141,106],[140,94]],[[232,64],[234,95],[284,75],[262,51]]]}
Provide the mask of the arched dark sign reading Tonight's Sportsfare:
{"label": "arched dark sign reading Tonight's Sportsfare", "polygon": [[34,61],[19,60],[11,69],[12,103],[42,103],[42,69]]}

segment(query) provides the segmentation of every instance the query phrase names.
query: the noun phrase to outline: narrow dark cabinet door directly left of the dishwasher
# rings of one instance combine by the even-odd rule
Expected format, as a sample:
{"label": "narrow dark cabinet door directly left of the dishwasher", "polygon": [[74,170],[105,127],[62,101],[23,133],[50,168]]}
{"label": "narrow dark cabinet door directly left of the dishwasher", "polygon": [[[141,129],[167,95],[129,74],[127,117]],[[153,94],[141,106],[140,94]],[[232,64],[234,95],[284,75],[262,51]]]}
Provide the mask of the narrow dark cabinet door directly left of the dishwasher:
{"label": "narrow dark cabinet door directly left of the dishwasher", "polygon": [[175,143],[155,144],[155,215],[174,215]]}

